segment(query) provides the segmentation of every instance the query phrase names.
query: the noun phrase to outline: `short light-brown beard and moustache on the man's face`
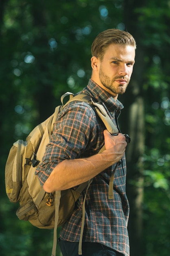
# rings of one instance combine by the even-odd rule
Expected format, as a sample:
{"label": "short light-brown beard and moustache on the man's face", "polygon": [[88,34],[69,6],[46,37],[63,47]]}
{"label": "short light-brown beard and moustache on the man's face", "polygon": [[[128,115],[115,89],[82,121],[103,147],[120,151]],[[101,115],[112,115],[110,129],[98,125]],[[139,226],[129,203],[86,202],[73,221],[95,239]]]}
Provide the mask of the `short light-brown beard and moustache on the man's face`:
{"label": "short light-brown beard and moustache on the man's face", "polygon": [[127,81],[126,86],[125,85],[118,85],[118,86],[114,86],[114,81],[117,79],[122,79],[123,76],[115,76],[114,78],[110,78],[109,76],[107,76],[103,71],[102,71],[102,67],[100,68],[99,71],[99,78],[100,81],[102,83],[102,85],[105,86],[105,88],[109,89],[111,92],[113,92],[114,94],[124,94],[124,92],[126,91],[126,88],[128,86],[129,81]]}

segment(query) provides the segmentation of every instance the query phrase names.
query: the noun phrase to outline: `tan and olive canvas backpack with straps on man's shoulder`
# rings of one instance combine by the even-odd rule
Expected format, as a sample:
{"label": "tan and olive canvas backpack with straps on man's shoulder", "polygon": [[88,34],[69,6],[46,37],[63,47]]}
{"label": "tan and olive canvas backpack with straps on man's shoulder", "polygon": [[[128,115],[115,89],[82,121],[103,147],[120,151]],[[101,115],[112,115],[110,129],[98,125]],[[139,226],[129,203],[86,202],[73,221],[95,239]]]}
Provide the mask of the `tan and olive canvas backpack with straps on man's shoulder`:
{"label": "tan and olive canvas backpack with straps on man's shoulder", "polygon": [[[63,100],[66,96],[70,99],[64,105]],[[42,161],[46,145],[53,132],[54,122],[61,109],[70,101],[85,101],[89,103],[104,122],[107,130],[111,134],[117,133],[118,129],[114,126],[105,108],[100,103],[95,103],[88,95],[74,94],[67,92],[61,96],[61,106],[55,108],[54,113],[44,122],[36,126],[26,138],[26,141],[19,139],[16,141],[10,152],[5,166],[5,185],[9,200],[13,203],[19,201],[20,207],[16,215],[20,220],[28,220],[32,225],[42,229],[54,229],[54,241],[52,256],[56,255],[57,246],[57,227],[63,225],[74,211],[75,202],[86,188],[86,193],[92,180],[80,184],[76,190],[67,189],[46,193],[35,175],[37,165]],[[99,153],[105,148],[103,147]],[[112,181],[113,182],[113,181]],[[113,184],[112,184],[113,193]],[[86,198],[85,193],[85,198]],[[112,196],[112,195],[111,195]],[[81,239],[79,252],[81,253],[81,243],[83,237],[83,227],[85,221],[85,198],[83,202]]]}

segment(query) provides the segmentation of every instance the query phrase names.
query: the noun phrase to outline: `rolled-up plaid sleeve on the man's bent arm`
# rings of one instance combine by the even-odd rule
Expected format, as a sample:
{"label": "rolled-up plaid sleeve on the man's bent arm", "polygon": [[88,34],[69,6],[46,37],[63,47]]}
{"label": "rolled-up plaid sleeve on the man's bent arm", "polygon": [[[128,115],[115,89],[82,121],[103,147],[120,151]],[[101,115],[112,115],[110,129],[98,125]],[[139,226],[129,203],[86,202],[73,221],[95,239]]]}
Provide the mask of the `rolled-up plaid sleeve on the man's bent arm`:
{"label": "rolled-up plaid sleeve on the man's bent arm", "polygon": [[35,172],[42,186],[59,162],[82,157],[95,144],[95,119],[94,110],[84,102],[70,103],[61,110],[42,162]]}

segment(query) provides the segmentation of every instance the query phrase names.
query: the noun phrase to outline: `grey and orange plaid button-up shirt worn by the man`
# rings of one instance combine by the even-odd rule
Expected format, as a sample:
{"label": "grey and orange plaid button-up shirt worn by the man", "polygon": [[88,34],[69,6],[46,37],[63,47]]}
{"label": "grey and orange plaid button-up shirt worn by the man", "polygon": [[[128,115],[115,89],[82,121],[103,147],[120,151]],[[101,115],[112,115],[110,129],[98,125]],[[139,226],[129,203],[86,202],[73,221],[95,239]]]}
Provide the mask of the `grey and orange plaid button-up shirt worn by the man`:
{"label": "grey and orange plaid button-up shirt worn by the man", "polygon": [[[113,123],[118,126],[118,116],[123,108],[120,101],[115,101],[91,79],[81,93],[88,94],[92,99],[102,103]],[[104,124],[87,103],[75,101],[63,108],[54,125],[54,132],[43,161],[36,172],[40,183],[43,185],[53,168],[64,159],[78,159],[96,154],[104,144],[104,129]],[[108,199],[109,179],[114,166],[96,175],[89,186],[85,204],[83,242],[101,243],[129,256],[129,203],[125,192],[125,156],[115,173],[114,199]],[[84,195],[85,191],[78,198],[77,207],[71,218],[61,229],[62,240],[79,241]]]}

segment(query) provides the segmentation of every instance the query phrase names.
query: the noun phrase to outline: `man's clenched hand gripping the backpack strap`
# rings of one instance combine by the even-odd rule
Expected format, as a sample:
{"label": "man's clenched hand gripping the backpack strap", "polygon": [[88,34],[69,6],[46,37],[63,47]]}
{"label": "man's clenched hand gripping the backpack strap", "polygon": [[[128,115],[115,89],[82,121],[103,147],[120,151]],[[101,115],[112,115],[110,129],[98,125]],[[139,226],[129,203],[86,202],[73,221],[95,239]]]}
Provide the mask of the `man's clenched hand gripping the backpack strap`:
{"label": "man's clenched hand gripping the backpack strap", "polygon": [[127,142],[126,137],[122,133],[111,135],[107,130],[103,132],[105,137],[105,148],[113,155],[113,159],[118,162],[124,155]]}

